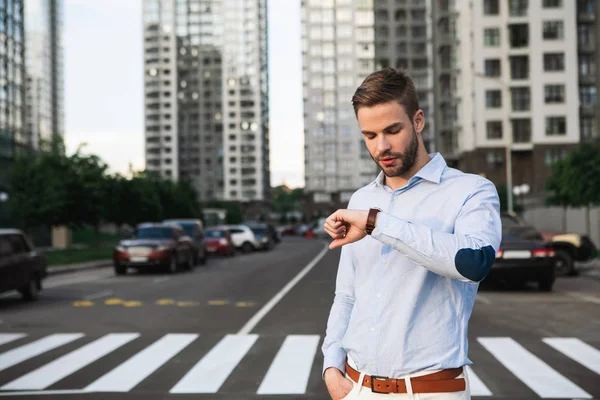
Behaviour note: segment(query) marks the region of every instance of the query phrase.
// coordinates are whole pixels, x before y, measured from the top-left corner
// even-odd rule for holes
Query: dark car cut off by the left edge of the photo
[[[47,271],[45,257],[26,234],[0,229],[0,293],[17,290],[25,300],[37,300]]]

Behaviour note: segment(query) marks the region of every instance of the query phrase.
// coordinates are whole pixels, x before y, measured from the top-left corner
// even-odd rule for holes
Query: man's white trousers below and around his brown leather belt
[[[354,365],[352,365],[352,361],[348,360],[348,364],[350,364],[351,367],[355,368]],[[429,371],[429,372],[435,372],[435,371]],[[469,377],[467,376],[467,369],[463,368],[463,372],[457,376],[456,378],[464,378],[465,379],[465,384],[466,384],[466,388],[464,391],[462,392],[452,392],[452,393],[412,393],[412,388],[410,386],[410,378],[412,377],[416,377],[416,376],[420,376],[420,375],[425,375],[424,373],[415,373],[415,374],[410,374],[410,375],[406,375],[403,376],[402,378],[405,379],[406,382],[406,388],[408,389],[408,393],[373,393],[371,391],[370,388],[359,385],[358,383],[352,381],[352,379],[350,379],[348,377],[348,375],[346,375],[346,377],[348,379],[350,379],[353,383],[353,388],[352,391],[350,393],[348,393],[348,395],[346,397],[344,397],[342,400],[355,400],[355,399],[360,399],[360,400],[390,400],[390,399],[394,399],[394,400],[470,400],[471,399],[471,388],[469,386]],[[364,378],[364,373],[360,374],[360,379],[359,381],[362,382],[363,378]]]

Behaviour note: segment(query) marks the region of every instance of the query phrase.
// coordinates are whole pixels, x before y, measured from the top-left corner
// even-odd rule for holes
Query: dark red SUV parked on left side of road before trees
[[[173,224],[145,224],[131,239],[122,240],[113,253],[115,273],[128,268],[162,267],[175,273],[180,267],[194,266],[194,246],[182,227]]]

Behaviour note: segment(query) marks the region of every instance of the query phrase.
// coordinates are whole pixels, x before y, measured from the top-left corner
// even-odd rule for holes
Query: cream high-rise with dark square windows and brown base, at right
[[[434,33],[439,151],[542,194],[550,165],[580,141],[575,2],[438,0],[434,10],[433,25],[451,27]]]

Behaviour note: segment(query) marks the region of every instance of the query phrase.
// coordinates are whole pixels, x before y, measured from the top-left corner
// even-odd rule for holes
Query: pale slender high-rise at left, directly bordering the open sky
[[[25,132],[33,149],[64,135],[62,9],[62,0],[25,2]]]

